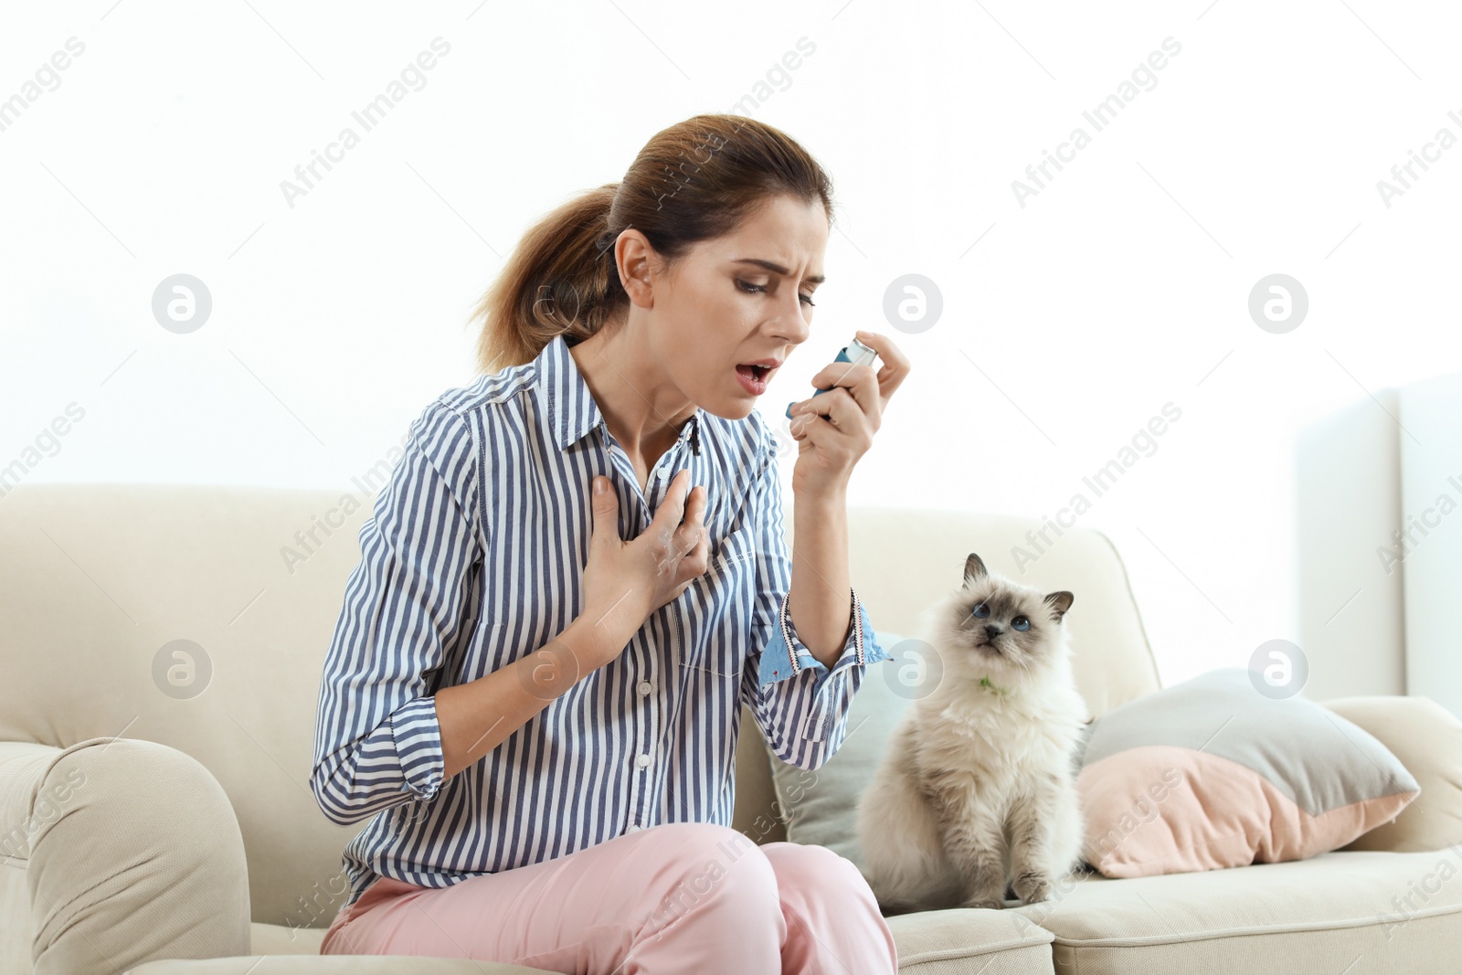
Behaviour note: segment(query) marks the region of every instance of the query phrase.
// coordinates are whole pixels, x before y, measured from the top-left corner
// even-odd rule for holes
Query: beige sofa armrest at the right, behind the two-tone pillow
[[[1421,852],[1462,842],[1462,721],[1423,696],[1376,694],[1319,703],[1374,735],[1421,786],[1396,819],[1341,849]]]

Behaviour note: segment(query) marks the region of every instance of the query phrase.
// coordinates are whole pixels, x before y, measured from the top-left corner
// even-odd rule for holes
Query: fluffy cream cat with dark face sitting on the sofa
[[[1023,903],[1083,867],[1076,763],[1091,718],[1061,620],[1070,592],[991,574],[925,610],[940,665],[858,798],[864,874],[885,914]],[[934,683],[934,681],[930,681]]]

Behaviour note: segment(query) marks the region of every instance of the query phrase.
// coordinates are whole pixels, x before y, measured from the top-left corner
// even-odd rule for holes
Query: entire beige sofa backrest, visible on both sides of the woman
[[[373,503],[364,490],[13,488],[0,497],[0,740],[69,747],[120,735],[186,751],[238,816],[254,921],[327,925],[344,900],[341,851],[363,824],[335,826],[314,803],[314,712]],[[969,512],[852,509],[854,586],[879,630],[912,636],[923,607],[956,586],[978,551],[994,572],[1076,593],[1066,618],[1092,713],[1156,690],[1105,536],[1069,529],[1020,576],[1009,553],[1031,528]],[[765,746],[743,716],[738,827],[772,810]]]

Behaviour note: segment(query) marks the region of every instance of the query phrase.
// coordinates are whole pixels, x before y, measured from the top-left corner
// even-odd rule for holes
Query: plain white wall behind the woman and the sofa
[[[472,379],[463,320],[531,221],[807,38],[753,114],[825,162],[842,209],[816,335],[766,412],[880,330],[915,373],[854,503],[1054,517],[1171,402],[1079,522],[1121,548],[1167,683],[1244,664],[1306,639],[1297,434],[1462,368],[1462,148],[1390,206],[1377,191],[1462,134],[1459,26],[1444,3],[7,6],[0,98],[69,38],[85,51],[0,132],[0,465],[348,484]],[[425,86],[288,206],[281,181],[437,37]],[[1083,111],[1165,38],[1181,51],[1095,132]],[[1077,126],[1091,143],[1018,203]],[[180,272],[213,300],[190,335],[151,311]],[[1310,301],[1282,335],[1247,310],[1276,272]],[[943,297],[920,333],[882,317],[906,273]],[[70,403],[85,417],[26,455]],[[1344,507],[1347,484],[1304,484]]]

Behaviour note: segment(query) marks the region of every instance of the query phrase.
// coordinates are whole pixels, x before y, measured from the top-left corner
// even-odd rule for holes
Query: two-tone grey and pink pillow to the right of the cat
[[[1390,820],[1420,789],[1386,746],[1224,668],[1095,721],[1077,792],[1085,860],[1143,877],[1301,860]]]

